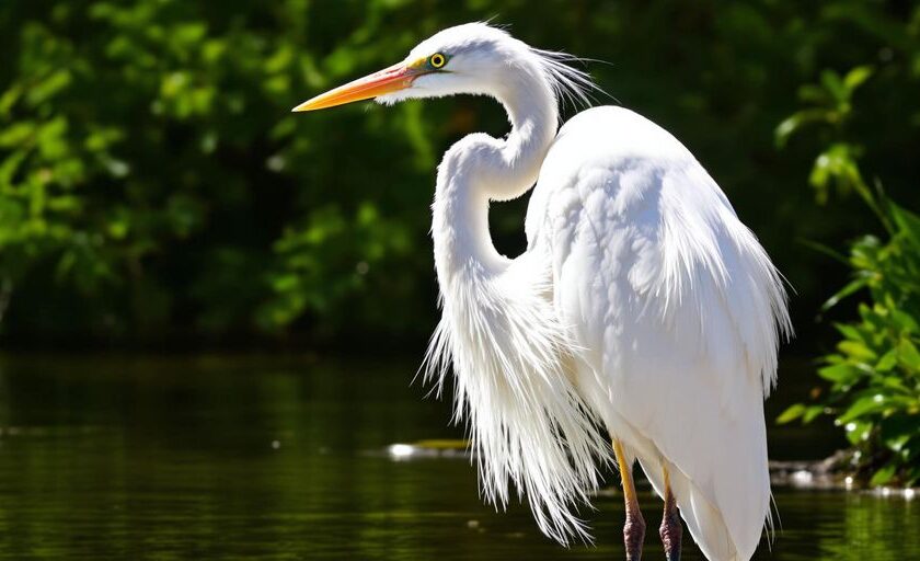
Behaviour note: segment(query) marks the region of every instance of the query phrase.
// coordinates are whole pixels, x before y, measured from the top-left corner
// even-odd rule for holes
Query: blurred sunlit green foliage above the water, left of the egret
[[[323,144],[343,136],[332,117],[289,113],[307,92],[407,46],[371,56],[383,2],[324,59],[304,38],[301,1],[53,4],[4,7],[19,33],[0,96],[0,289],[13,312],[21,302],[15,328],[145,336],[191,319],[185,330],[207,334],[312,314],[335,329],[333,318],[348,321],[345,302],[366,323],[363,307],[398,309],[371,301],[360,271],[417,249],[414,222],[390,213],[426,197],[382,203],[388,190],[368,176],[409,151],[400,125],[377,119],[352,135],[365,139],[355,153],[377,147],[363,172]],[[412,117],[393,121],[407,128]],[[417,286],[415,273],[404,266],[395,280]],[[43,302],[48,291],[65,301]]]

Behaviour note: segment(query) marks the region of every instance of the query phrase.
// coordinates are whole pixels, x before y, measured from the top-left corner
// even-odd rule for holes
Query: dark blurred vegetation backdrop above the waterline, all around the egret
[[[697,154],[789,278],[793,350],[829,345],[815,320],[849,273],[802,241],[840,249],[882,228],[846,188],[809,186],[824,128],[784,147],[774,131],[809,101],[803,84],[869,66],[840,126],[867,182],[916,209],[915,2],[4,0],[0,342],[422,341],[435,167],[467,133],[504,134],[499,107],[289,110],[486,19],[606,61],[588,64],[597,82]],[[525,207],[493,215],[508,254]]]

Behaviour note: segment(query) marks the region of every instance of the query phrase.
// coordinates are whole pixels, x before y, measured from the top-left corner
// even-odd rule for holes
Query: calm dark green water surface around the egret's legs
[[[409,386],[414,368],[0,358],[0,558],[623,558],[613,488],[589,513],[597,546],[566,550],[538,534],[525,507],[483,506],[465,459],[391,459],[392,443],[459,436],[446,405]],[[801,394],[804,378],[786,378]],[[826,428],[815,431],[772,431],[773,456],[832,449]],[[757,559],[920,559],[920,501],[775,495],[783,529]],[[659,503],[647,490],[643,499],[656,528]],[[649,531],[645,559],[664,559],[656,538]],[[685,559],[701,559],[688,541]]]

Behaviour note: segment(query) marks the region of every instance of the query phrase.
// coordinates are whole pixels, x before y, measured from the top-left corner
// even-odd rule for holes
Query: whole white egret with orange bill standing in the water
[[[584,538],[573,511],[598,485],[609,437],[628,559],[640,559],[645,529],[637,459],[665,501],[668,560],[680,557],[678,512],[709,559],[747,560],[770,520],[763,399],[791,330],[780,275],[663,128],[606,106],[556,133],[561,99],[593,87],[571,59],[459,25],[294,111],[371,98],[501,102],[510,133],[455,144],[432,207],[442,318],[427,374],[456,376],[456,416],[486,497],[504,505],[510,482],[547,535]],[[534,183],[527,251],[505,257],[490,237],[490,202]]]

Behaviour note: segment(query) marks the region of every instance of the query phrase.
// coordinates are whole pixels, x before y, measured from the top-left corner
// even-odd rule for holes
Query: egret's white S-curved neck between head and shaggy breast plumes
[[[488,233],[488,203],[527,193],[555,138],[559,113],[542,72],[519,71],[488,94],[508,113],[508,136],[469,135],[438,167],[432,237],[441,291],[460,272],[488,274],[507,266]]]

